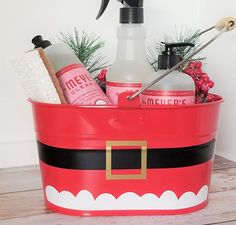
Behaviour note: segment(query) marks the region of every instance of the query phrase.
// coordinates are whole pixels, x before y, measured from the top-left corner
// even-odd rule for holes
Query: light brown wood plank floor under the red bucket
[[[210,204],[181,216],[72,217],[44,207],[38,167],[0,170],[0,225],[236,225],[236,163],[216,156]]]

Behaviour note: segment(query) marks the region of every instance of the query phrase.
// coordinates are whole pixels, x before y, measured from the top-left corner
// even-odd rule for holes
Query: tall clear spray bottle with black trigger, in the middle
[[[118,96],[125,91],[138,91],[142,80],[154,70],[146,59],[143,27],[143,0],[120,1],[120,23],[118,27],[117,57],[106,76],[106,94],[113,104],[118,103]],[[106,10],[109,0],[103,0],[97,19]]]

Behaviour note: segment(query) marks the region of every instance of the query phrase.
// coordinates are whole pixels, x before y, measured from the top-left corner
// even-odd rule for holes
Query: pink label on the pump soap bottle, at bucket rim
[[[189,105],[195,103],[194,91],[146,90],[141,95],[143,105]]]

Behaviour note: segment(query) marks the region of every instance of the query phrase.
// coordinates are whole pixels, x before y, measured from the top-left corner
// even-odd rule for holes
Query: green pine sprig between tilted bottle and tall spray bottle
[[[60,35],[60,40],[73,49],[90,74],[96,75],[108,67],[106,58],[98,54],[98,50],[104,46],[100,37],[88,35],[84,31],[80,34],[76,28],[73,34],[61,32]]]

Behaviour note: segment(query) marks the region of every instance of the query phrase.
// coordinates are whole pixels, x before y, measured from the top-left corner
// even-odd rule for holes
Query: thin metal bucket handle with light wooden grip
[[[188,57],[186,57],[184,60],[182,60],[181,62],[179,62],[178,64],[176,64],[174,67],[172,67],[171,69],[167,70],[163,75],[161,75],[160,77],[156,78],[154,81],[152,81],[150,84],[146,85],[145,87],[143,87],[141,90],[135,92],[133,95],[129,95],[127,96],[128,100],[133,100],[135,99],[138,95],[140,95],[143,91],[145,91],[146,89],[150,88],[152,85],[154,85],[155,83],[159,82],[160,80],[162,80],[164,77],[166,77],[167,75],[169,75],[170,73],[172,73],[174,70],[178,69],[181,65],[183,65],[184,63],[186,63],[188,60],[190,60],[193,56],[195,56],[196,54],[198,54],[199,52],[201,52],[203,49],[205,49],[206,47],[208,47],[212,42],[214,42],[216,39],[218,39],[223,33],[225,33],[226,31],[232,31],[236,28],[236,18],[233,17],[227,17],[227,18],[223,18],[222,20],[220,20],[215,26],[212,26],[204,31],[202,31],[200,34],[198,34],[198,36],[201,36],[204,33],[207,33],[213,29],[217,29],[219,30],[219,33],[213,37],[210,41],[208,41],[206,44],[204,44],[202,47],[200,47],[199,49],[197,49],[196,51],[194,51],[192,54],[190,54]]]

